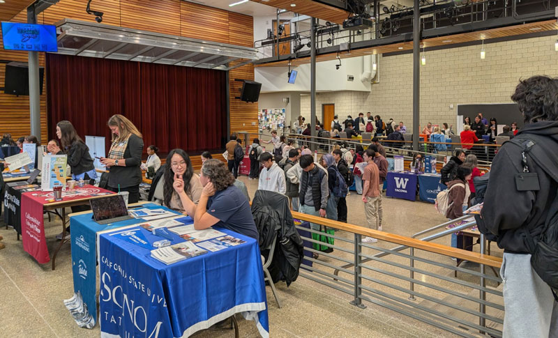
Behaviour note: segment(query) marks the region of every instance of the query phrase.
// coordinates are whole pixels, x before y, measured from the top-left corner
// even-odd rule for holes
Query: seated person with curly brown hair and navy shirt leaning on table
[[[194,219],[194,228],[202,230],[215,225],[257,240],[259,234],[250,203],[239,188],[234,186],[234,176],[225,163],[215,159],[206,160],[199,180],[204,188],[197,206],[186,194],[181,194],[186,212]],[[174,180],[175,190],[182,191],[183,185],[183,180]]]

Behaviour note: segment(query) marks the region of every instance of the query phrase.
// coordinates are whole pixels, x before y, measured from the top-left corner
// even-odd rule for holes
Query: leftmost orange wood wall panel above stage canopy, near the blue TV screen
[[[95,16],[86,13],[86,6],[87,0],[60,0],[43,12],[43,22],[55,24],[65,18],[95,22]],[[91,7],[104,13],[103,24],[120,26],[120,0],[95,0]]]

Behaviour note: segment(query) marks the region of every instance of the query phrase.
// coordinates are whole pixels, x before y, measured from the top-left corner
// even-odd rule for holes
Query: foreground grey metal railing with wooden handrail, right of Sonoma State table
[[[305,241],[304,250],[319,254],[317,258],[304,257],[301,277],[349,295],[351,304],[357,307],[370,302],[462,337],[476,337],[477,332],[502,337],[504,305],[502,291],[497,289],[502,279],[484,272],[485,265],[499,268],[502,261],[484,254],[483,245],[481,253],[469,252],[428,243],[427,238],[417,240],[296,212],[293,216],[349,231],[326,235],[312,226],[296,225]],[[429,238],[473,224],[462,224]],[[377,238],[378,243],[363,243],[363,236]],[[333,238],[334,244],[325,244],[324,237]],[[390,243],[399,246],[384,247]],[[333,252],[320,251],[315,245],[325,245]],[[478,263],[480,271],[476,265],[460,267],[444,262],[448,257]],[[459,278],[453,275],[455,271],[462,272]],[[487,281],[495,285],[487,286]]]

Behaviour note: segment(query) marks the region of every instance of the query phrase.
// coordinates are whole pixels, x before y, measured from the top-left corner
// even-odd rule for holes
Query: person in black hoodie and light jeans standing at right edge
[[[558,79],[520,81],[525,126],[492,162],[478,229],[504,249],[504,337],[558,335]]]

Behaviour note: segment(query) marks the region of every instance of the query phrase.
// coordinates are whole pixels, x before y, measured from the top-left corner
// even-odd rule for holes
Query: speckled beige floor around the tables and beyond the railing
[[[257,180],[248,180],[246,176],[241,176],[241,180],[253,196]],[[347,206],[349,223],[366,224],[359,195],[352,192],[347,197]],[[384,231],[410,236],[442,222],[444,217],[435,212],[432,204],[384,197]],[[54,236],[59,228],[54,222],[47,223],[45,233],[50,248],[57,244]],[[336,234],[345,238],[352,236],[344,231]],[[50,264],[40,266],[24,252],[13,229],[6,229],[3,221],[0,221],[0,236],[6,244],[6,249],[0,250],[0,337],[98,337],[98,325],[93,330],[78,328],[62,303],[73,295],[70,246],[61,249],[56,270],[52,271]],[[448,244],[449,238],[435,242]],[[478,245],[476,247],[478,249]],[[492,245],[492,252],[501,254],[495,245]],[[438,258],[451,264],[448,257]],[[320,259],[335,261],[327,257]],[[391,282],[397,284],[393,279]],[[281,309],[271,289],[266,288],[271,337],[453,337],[449,332],[370,302],[365,309],[354,307],[349,304],[352,300],[349,295],[304,277],[299,277],[288,288],[283,282],[276,286]],[[240,337],[258,337],[255,325],[240,317],[239,330]],[[195,337],[234,337],[234,332],[211,328],[197,332]]]

